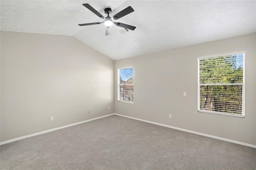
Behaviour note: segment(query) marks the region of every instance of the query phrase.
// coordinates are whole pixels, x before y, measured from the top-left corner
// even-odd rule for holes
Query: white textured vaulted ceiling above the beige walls
[[[80,27],[103,21],[84,3],[101,14],[111,7],[113,15],[132,6],[134,12],[117,22],[137,28],[121,34],[114,25],[105,36],[104,24]],[[256,0],[1,0],[0,5],[2,31],[74,36],[113,60],[256,32]]]

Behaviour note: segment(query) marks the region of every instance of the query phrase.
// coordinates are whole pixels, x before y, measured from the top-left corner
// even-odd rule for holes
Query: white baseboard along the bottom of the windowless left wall
[[[61,128],[71,127],[71,126],[78,125],[78,124],[81,124],[81,123],[86,123],[86,122],[89,122],[89,121],[94,121],[96,119],[101,119],[101,118],[112,116],[112,115],[114,115],[114,113],[109,114],[109,115],[104,115],[104,116],[101,116],[101,117],[96,117],[96,118],[89,119],[89,120],[82,121],[82,122],[78,122],[78,123],[73,123],[73,124],[70,124],[70,125],[63,126],[63,127],[52,128],[52,129],[49,129],[49,130],[44,130],[42,132],[37,132],[37,133],[29,134],[29,135],[26,135],[26,136],[21,136],[21,137],[18,137],[18,138],[6,140],[6,141],[3,141],[3,142],[0,142],[0,145],[6,144],[6,143],[10,143],[10,142],[14,142],[16,140],[21,140],[21,139],[24,139],[24,138],[29,138],[29,137],[36,136],[36,135],[39,135],[39,134],[43,134],[43,133],[47,133],[47,132],[52,132],[54,130],[58,130],[58,129],[61,129]]]

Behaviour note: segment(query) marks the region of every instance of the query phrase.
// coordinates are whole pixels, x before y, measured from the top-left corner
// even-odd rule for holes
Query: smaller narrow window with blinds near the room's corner
[[[133,67],[117,69],[118,101],[133,103]]]

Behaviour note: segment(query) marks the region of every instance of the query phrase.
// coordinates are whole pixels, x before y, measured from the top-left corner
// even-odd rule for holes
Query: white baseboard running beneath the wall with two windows
[[[184,129],[184,128],[172,127],[172,126],[169,126],[169,125],[164,125],[164,124],[161,124],[161,123],[146,121],[146,120],[143,120],[143,119],[138,119],[138,118],[134,118],[134,117],[126,116],[126,115],[120,115],[120,114],[117,114],[117,113],[114,113],[114,115],[118,115],[118,116],[122,116],[122,117],[127,117],[127,118],[135,119],[135,120],[138,120],[138,121],[143,121],[143,122],[147,122],[147,123],[152,123],[152,124],[155,124],[155,125],[160,125],[160,126],[168,127],[168,128],[174,128],[174,129],[182,130],[182,131],[185,131],[185,132],[190,132],[190,133],[194,133],[194,134],[199,134],[199,135],[207,136],[207,137],[210,137],[210,138],[215,138],[215,139],[224,140],[224,141],[227,141],[227,142],[232,142],[232,143],[241,144],[241,145],[244,145],[244,146],[249,146],[249,147],[252,147],[252,148],[256,148],[256,145],[254,145],[254,144],[248,144],[248,143],[239,142],[239,141],[236,141],[236,140],[231,140],[231,139],[227,139],[227,138],[222,138],[222,137],[218,137],[218,136],[213,136],[213,135],[210,135],[210,134],[195,132],[195,131],[192,131],[192,130],[186,130],[186,129]]]

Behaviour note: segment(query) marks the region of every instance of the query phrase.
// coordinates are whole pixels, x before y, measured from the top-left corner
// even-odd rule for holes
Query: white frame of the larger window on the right
[[[234,114],[234,113],[223,113],[223,112],[216,112],[216,111],[204,111],[200,110],[200,85],[208,85],[207,83],[200,84],[200,59],[208,59],[208,58],[214,58],[214,57],[222,57],[222,56],[228,56],[228,55],[236,55],[236,54],[243,54],[243,83],[236,83],[236,85],[242,85],[242,115]],[[210,113],[210,114],[216,114],[216,115],[226,115],[226,116],[232,116],[232,117],[245,117],[245,51],[238,51],[238,52],[232,52],[232,53],[222,53],[217,55],[208,55],[203,57],[198,57],[198,112],[202,113]],[[210,83],[210,85],[234,85],[234,83]]]

